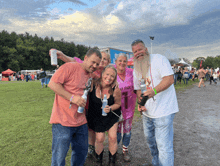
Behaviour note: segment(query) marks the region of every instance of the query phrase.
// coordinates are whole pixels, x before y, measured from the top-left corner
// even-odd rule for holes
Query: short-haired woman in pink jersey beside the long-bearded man
[[[128,146],[131,139],[132,120],[136,105],[136,94],[133,84],[133,69],[127,68],[127,56],[120,53],[115,61],[117,69],[117,82],[121,90],[121,111],[124,118],[123,122],[119,122],[117,130],[118,144],[122,140],[122,151],[124,161],[130,161],[128,155]]]

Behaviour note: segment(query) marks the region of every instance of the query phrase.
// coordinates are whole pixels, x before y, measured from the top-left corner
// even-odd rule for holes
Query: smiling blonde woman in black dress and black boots
[[[109,163],[115,165],[117,152],[117,128],[121,115],[121,91],[115,87],[117,71],[113,66],[106,66],[101,78],[94,83],[89,95],[89,109],[87,112],[88,127],[95,131],[96,135],[96,158],[97,164],[102,165],[103,142],[105,131],[108,131]],[[112,88],[114,87],[114,88]],[[102,116],[102,100],[107,95],[108,105],[104,108],[107,116]],[[112,113],[116,113],[118,116]]]

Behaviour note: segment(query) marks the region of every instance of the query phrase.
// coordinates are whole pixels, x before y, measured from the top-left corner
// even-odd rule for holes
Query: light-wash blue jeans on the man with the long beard
[[[153,157],[153,166],[173,166],[173,119],[175,114],[161,118],[143,116],[144,135]]]

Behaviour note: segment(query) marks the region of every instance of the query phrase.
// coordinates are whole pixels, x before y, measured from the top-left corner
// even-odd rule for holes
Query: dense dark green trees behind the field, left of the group
[[[20,70],[54,70],[51,66],[49,50],[56,48],[71,57],[83,59],[90,47],[66,42],[64,39],[55,41],[52,37],[41,38],[37,34],[16,34],[3,30],[0,32],[0,73],[8,68]],[[58,60],[59,65],[64,62]]]

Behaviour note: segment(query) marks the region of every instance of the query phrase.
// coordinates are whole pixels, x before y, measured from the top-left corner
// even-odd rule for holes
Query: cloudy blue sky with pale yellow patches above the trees
[[[141,39],[150,53],[192,62],[220,55],[220,1],[0,0],[2,30],[126,51]]]

